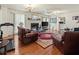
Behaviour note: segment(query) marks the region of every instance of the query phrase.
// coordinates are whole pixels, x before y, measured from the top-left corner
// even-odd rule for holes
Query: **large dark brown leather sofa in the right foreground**
[[[79,55],[79,32],[65,32],[60,42],[53,41],[64,55]]]

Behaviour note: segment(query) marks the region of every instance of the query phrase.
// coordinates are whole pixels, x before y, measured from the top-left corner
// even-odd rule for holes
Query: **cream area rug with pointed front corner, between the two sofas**
[[[37,43],[38,45],[40,45],[41,47],[43,47],[43,48],[47,48],[47,47],[49,47],[50,45],[53,44],[53,40],[52,40],[52,39],[49,39],[49,40],[38,39],[38,40],[36,41],[36,43]]]

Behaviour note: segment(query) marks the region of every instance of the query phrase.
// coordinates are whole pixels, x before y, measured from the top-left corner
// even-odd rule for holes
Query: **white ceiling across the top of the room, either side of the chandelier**
[[[28,11],[27,4],[4,4],[2,6],[21,11]],[[31,4],[31,7],[33,8],[32,12],[38,12],[47,15],[79,10],[79,4]]]

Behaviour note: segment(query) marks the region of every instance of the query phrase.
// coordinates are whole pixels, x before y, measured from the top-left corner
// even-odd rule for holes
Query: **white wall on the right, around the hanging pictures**
[[[72,20],[72,16],[79,16],[79,11],[77,12],[69,12],[69,13],[64,13],[64,14],[60,14],[58,15],[58,17],[65,17],[65,24],[61,24],[60,27],[63,28],[75,28],[75,27],[79,27],[79,23],[77,23],[77,20]]]

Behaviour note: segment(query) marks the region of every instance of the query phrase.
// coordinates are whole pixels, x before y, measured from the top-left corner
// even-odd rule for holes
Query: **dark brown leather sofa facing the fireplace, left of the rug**
[[[29,44],[38,39],[38,33],[18,27],[18,38],[22,44]]]

